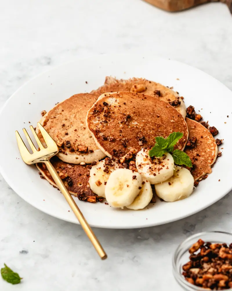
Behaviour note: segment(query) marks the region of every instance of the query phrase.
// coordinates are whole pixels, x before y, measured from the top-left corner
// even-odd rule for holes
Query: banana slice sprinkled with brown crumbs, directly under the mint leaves
[[[173,157],[166,153],[160,158],[149,157],[149,150],[142,149],[135,159],[138,172],[151,184],[157,184],[171,178],[173,175]]]

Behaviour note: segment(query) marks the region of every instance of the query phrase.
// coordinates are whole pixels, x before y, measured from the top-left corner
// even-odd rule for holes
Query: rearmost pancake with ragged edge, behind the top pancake
[[[129,80],[117,80],[113,77],[106,77],[105,84],[91,93],[101,95],[106,92],[129,91],[133,93],[144,93],[155,96],[165,102],[172,102],[177,100],[177,107],[175,109],[180,112],[184,118],[186,116],[186,106],[179,94],[172,89],[165,87],[159,83],[149,81],[142,78],[132,78]]]

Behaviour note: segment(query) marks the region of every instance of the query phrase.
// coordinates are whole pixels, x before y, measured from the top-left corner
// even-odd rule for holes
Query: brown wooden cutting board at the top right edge
[[[207,2],[226,3],[232,13],[232,0],[144,0],[166,11],[180,11]]]

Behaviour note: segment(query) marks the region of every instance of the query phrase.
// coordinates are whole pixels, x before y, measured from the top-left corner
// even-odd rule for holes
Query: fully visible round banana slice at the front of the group
[[[142,176],[129,169],[117,169],[106,184],[106,200],[112,207],[130,205],[142,189]]]

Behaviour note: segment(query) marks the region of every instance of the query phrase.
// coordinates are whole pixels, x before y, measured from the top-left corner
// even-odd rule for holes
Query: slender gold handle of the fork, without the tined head
[[[71,209],[73,210],[74,214],[76,215],[80,225],[82,226],[82,228],[84,229],[86,235],[88,236],[88,238],[90,239],[90,241],[92,242],[93,246],[95,247],[97,253],[99,254],[100,258],[102,260],[107,258],[107,255],[104,251],[104,249],[102,248],[100,242],[98,241],[97,237],[95,236],[95,234],[93,233],[93,230],[91,229],[91,227],[88,225],[88,222],[86,221],[86,219],[84,218],[83,214],[81,213],[81,211],[79,210],[79,207],[77,206],[77,204],[75,203],[75,201],[73,200],[73,197],[71,196],[71,194],[68,192],[67,188],[65,187],[63,181],[61,180],[61,178],[59,177],[59,175],[57,174],[57,171],[55,170],[55,168],[52,166],[51,162],[49,160],[44,161],[44,163],[46,164],[48,171],[50,172],[50,174],[52,175],[53,180],[55,181],[55,183],[57,184],[57,187],[60,189],[61,193],[64,195],[65,199],[67,200],[69,206],[71,207]]]

